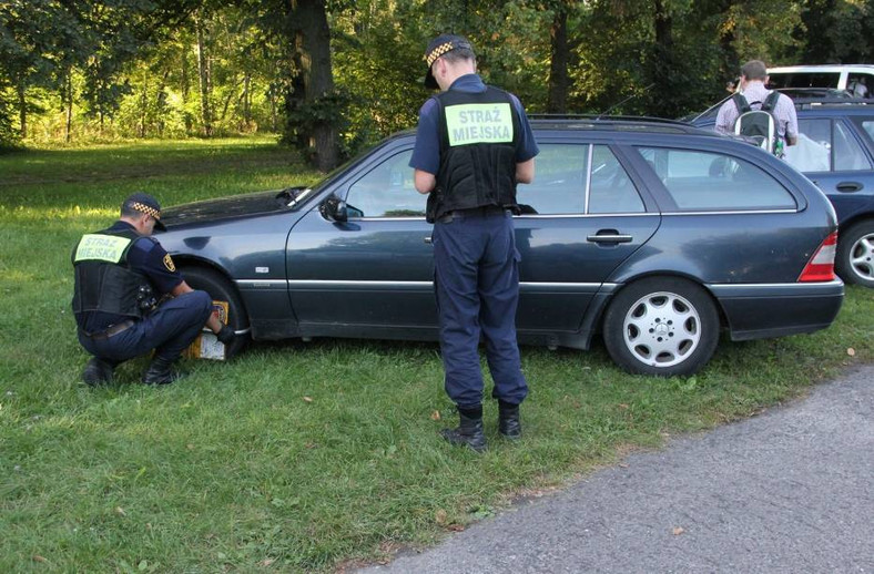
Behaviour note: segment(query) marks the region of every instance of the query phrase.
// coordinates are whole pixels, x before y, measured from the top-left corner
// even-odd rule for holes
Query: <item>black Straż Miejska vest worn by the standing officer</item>
[[[516,147],[521,121],[510,95],[497,88],[450,90],[440,104],[440,168],[429,197],[435,217],[453,209],[516,205]]]

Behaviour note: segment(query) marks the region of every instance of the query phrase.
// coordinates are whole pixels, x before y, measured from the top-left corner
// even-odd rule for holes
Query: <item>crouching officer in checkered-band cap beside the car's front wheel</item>
[[[165,228],[161,205],[135,193],[122,204],[118,222],[82,236],[73,249],[73,314],[79,342],[93,356],[82,373],[88,385],[111,381],[120,362],[152,349],[142,380],[166,385],[180,378],[173,362],[204,324],[225,345],[235,337],[213,315],[210,295],[192,289],[151,237],[155,227]]]

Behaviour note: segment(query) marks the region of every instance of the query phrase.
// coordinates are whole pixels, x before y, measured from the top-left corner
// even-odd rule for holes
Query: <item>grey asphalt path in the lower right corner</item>
[[[363,573],[874,573],[874,365]]]

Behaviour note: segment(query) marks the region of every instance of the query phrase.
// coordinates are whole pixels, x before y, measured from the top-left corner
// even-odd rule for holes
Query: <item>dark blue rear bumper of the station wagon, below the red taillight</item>
[[[837,317],[844,300],[841,279],[707,287],[722,307],[735,341],[825,329]]]

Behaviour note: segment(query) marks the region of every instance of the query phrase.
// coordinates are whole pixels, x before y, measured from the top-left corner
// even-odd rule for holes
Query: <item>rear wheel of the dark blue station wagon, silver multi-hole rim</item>
[[[698,285],[649,277],[610,303],[603,339],[610,357],[631,373],[670,377],[698,372],[717,349],[717,307]]]

